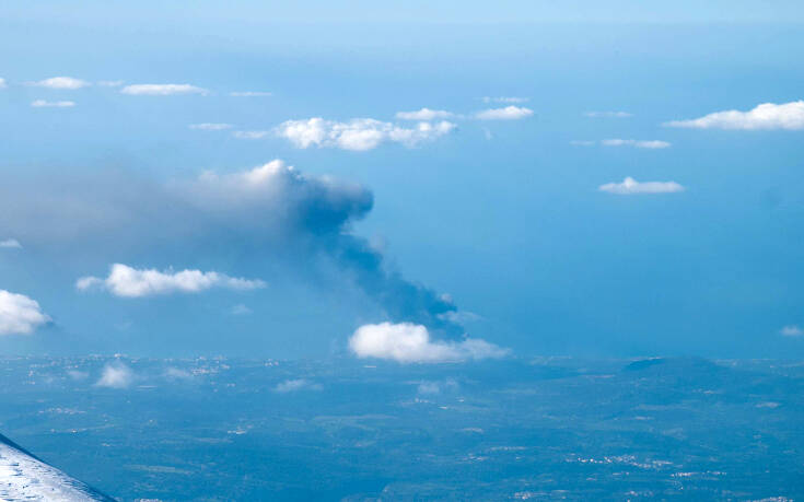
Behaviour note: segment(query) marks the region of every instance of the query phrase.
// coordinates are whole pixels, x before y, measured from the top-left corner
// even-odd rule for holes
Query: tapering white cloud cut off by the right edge
[[[730,109],[691,120],[673,120],[664,125],[691,129],[800,130],[804,129],[804,101],[781,105],[762,103],[748,112]]]

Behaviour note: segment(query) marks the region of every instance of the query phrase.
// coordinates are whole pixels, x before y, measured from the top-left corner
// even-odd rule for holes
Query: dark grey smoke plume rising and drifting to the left
[[[66,258],[114,255],[121,262],[141,259],[145,252],[175,262],[187,246],[210,258],[231,257],[245,245],[249,252],[243,259],[254,269],[281,264],[312,287],[331,281],[327,290],[361,291],[388,319],[462,336],[463,327],[444,315],[456,311],[451,299],[405,278],[381,249],[353,233],[373,202],[362,185],[305,174],[279,160],[167,183],[125,171],[92,178],[74,173],[44,180],[9,177],[0,184],[0,235],[59,249]],[[82,285],[109,290],[106,280],[88,279]]]

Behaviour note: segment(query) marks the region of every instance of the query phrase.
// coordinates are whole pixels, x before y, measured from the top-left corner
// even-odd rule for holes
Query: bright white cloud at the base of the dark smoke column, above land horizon
[[[501,358],[508,353],[480,339],[433,341],[427,327],[412,324],[366,324],[354,331],[349,348],[358,358],[389,359],[401,363],[455,362]]]

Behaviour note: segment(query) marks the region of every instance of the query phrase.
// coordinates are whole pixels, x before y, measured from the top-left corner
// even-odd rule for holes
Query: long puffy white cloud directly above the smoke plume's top
[[[348,122],[325,120],[321,117],[307,120],[288,120],[277,129],[277,135],[298,148],[330,147],[342,150],[365,151],[391,141],[416,147],[447,135],[455,125],[445,120],[436,124],[419,122],[405,128],[373,118],[356,118]]]

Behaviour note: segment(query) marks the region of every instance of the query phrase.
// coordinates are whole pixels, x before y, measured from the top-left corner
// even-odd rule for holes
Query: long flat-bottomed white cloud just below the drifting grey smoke
[[[254,290],[265,288],[265,282],[258,279],[241,279],[218,272],[202,272],[200,270],[182,270],[178,272],[167,270],[160,272],[155,269],[138,270],[123,264],[114,264],[106,279],[82,277],[75,282],[75,288],[80,291],[102,288],[116,296],[125,297],[199,293],[211,288]]]

